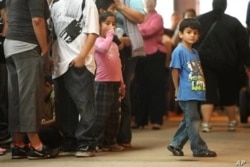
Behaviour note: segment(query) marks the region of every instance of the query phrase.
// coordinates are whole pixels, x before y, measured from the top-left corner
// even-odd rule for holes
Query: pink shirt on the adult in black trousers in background
[[[156,11],[150,13],[145,21],[138,25],[144,40],[146,54],[156,53],[158,50],[166,52],[165,46],[162,44],[162,36],[164,33],[163,19]]]

